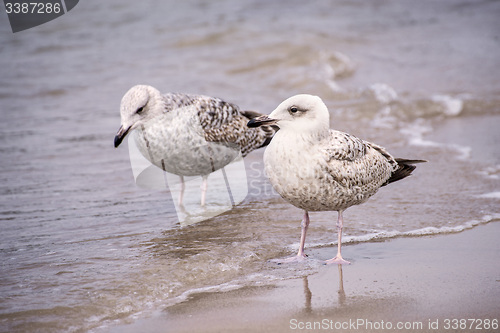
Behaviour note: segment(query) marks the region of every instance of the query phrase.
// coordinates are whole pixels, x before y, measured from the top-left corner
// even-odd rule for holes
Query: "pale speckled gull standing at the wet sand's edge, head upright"
[[[423,160],[397,159],[384,148],[329,128],[330,114],[321,98],[296,95],[249,127],[277,125],[264,153],[269,180],[285,200],[304,210],[299,252],[278,262],[306,258],[309,211],[337,211],[337,255],[327,264],[349,264],[341,255],[342,213],[374,195],[384,185],[405,178]]]

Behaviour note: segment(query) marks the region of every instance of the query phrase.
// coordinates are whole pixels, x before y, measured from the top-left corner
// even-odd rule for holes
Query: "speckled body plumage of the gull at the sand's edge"
[[[265,152],[266,173],[275,190],[307,211],[339,211],[359,205],[398,170],[398,163],[384,148],[347,133],[327,133],[309,145],[300,135],[290,133],[295,137],[291,138],[280,131]]]

